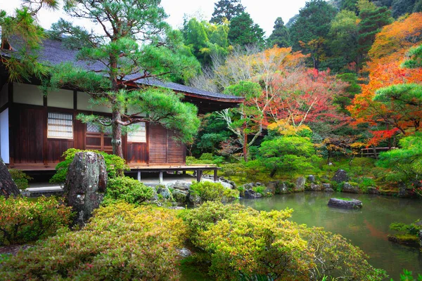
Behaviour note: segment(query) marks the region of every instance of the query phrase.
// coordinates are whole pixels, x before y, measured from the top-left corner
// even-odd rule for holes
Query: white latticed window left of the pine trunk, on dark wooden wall
[[[47,131],[48,138],[73,138],[73,115],[49,112]]]

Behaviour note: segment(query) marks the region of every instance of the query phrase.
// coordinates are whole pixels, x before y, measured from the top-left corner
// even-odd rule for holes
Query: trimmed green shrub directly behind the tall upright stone
[[[64,183],[66,175],[68,174],[69,166],[72,163],[73,158],[75,158],[75,153],[89,151],[103,155],[104,161],[106,162],[108,178],[123,176],[123,172],[129,170],[129,166],[127,166],[126,161],[117,155],[110,155],[98,150],[78,150],[76,148],[70,148],[63,152],[62,157],[64,157],[65,160],[56,165],[56,174],[51,177],[50,183]]]

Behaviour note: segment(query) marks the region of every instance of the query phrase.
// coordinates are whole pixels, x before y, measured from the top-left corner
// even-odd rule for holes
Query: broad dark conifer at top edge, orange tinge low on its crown
[[[336,9],[324,0],[311,0],[300,9],[299,17],[290,28],[293,50],[310,53],[313,67],[318,69],[324,56],[324,40]]]

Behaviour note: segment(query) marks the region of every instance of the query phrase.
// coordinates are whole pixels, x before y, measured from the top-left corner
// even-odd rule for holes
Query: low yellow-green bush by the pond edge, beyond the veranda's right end
[[[200,202],[219,201],[230,202],[239,197],[238,190],[225,188],[221,183],[212,183],[210,181],[201,181],[199,183],[192,183],[191,195],[200,197]]]

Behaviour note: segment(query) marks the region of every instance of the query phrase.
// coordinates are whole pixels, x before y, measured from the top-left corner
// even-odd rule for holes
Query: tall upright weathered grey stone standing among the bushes
[[[107,186],[106,162],[103,155],[77,152],[69,166],[63,189],[65,200],[75,215],[74,223],[84,226],[103,201]]]

